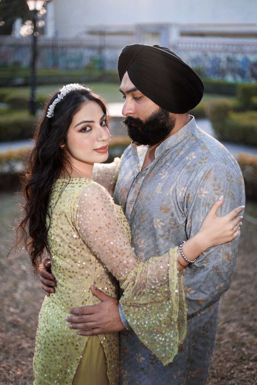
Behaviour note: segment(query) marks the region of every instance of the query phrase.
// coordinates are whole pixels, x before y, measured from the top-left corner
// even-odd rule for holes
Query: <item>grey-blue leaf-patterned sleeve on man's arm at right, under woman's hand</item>
[[[186,236],[190,238],[200,229],[212,204],[224,196],[217,215],[245,204],[244,181],[239,166],[221,163],[199,170],[185,194]],[[242,213],[240,214],[242,215]],[[186,240],[186,239],[185,239]],[[215,246],[201,254],[196,263],[184,273],[188,315],[201,310],[228,290],[235,268],[239,237],[230,243]]]

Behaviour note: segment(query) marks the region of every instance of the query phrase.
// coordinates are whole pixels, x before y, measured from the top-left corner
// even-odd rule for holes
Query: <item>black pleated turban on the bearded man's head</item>
[[[118,60],[120,82],[125,72],[134,86],[173,114],[190,111],[203,97],[203,82],[175,52],[159,45],[126,45]]]

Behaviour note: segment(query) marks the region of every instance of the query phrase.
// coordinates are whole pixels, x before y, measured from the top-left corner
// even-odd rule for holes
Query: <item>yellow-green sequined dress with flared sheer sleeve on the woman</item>
[[[131,248],[131,233],[121,207],[104,187],[88,179],[57,179],[50,211],[48,243],[57,287],[45,297],[39,314],[34,385],[72,384],[90,337],[69,328],[68,310],[100,302],[91,293],[92,284],[117,298],[114,277],[124,290],[120,303],[136,334],[164,365],[171,362],[186,333],[176,248],[145,263],[139,261]],[[110,385],[117,384],[118,333],[98,338],[106,355]]]

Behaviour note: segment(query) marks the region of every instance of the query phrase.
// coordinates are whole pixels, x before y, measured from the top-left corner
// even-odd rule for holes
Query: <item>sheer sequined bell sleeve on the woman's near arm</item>
[[[126,218],[97,184],[84,189],[78,206],[79,233],[124,290],[120,300],[124,316],[140,340],[168,364],[186,334],[185,296],[177,273],[176,248],[161,257],[139,261],[130,244]]]

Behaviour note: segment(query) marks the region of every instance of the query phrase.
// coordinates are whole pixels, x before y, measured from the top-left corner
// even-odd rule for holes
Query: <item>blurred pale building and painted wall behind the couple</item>
[[[207,77],[257,81],[257,0],[54,0],[46,9],[39,67],[112,70],[124,45],[143,43],[171,48]],[[0,64],[29,65],[29,41],[0,37]]]

